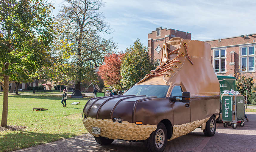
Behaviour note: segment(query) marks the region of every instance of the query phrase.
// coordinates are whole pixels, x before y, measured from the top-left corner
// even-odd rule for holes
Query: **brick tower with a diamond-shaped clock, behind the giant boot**
[[[175,29],[162,29],[162,27],[157,28],[148,34],[148,48],[149,54],[152,58],[156,59],[158,62],[161,60],[162,47],[164,41],[168,41],[173,37],[181,37],[182,39],[191,39],[191,33],[178,31]]]

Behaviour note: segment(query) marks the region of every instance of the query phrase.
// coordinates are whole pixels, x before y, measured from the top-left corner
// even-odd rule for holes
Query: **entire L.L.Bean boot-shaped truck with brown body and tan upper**
[[[172,38],[163,44],[161,64],[123,95],[90,99],[83,124],[97,143],[143,141],[162,152],[166,142],[201,127],[213,136],[220,88],[210,44]]]

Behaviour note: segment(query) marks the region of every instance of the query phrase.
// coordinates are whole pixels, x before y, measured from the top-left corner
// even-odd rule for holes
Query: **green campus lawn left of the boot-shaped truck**
[[[90,98],[68,98],[62,107],[60,95],[9,95],[7,125],[27,126],[22,131],[1,131],[0,152],[15,151],[88,133],[82,123],[82,110]],[[0,118],[3,94],[0,94]],[[80,105],[70,105],[80,102]],[[33,111],[33,107],[46,111]]]

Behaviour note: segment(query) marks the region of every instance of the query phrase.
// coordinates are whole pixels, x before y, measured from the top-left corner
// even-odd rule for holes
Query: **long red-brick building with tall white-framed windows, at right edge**
[[[255,75],[256,33],[205,41],[211,45],[212,65],[217,75]]]

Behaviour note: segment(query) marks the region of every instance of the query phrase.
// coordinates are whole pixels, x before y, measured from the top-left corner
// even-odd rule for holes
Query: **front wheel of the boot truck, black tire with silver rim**
[[[163,123],[157,125],[157,129],[152,132],[144,145],[148,152],[163,152],[167,142],[167,130]]]

